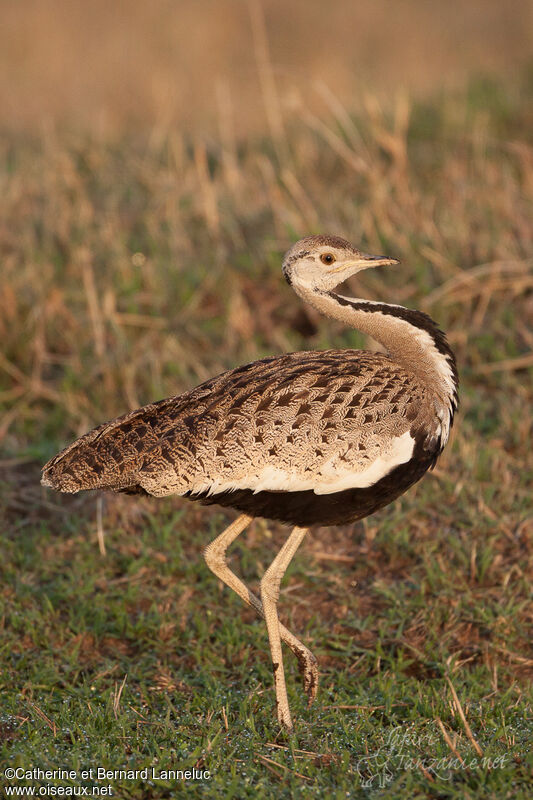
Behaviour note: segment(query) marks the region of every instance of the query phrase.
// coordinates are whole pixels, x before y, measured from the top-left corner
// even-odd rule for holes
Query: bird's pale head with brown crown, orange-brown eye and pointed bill
[[[399,263],[362,253],[340,236],[307,236],[285,253],[283,274],[294,289],[329,292],[363,269]]]

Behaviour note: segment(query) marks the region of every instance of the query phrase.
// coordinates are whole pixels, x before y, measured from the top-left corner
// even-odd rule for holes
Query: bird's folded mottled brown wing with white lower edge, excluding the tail
[[[194,392],[148,447],[150,494],[237,489],[327,494],[370,486],[412,456],[427,392],[387,356],[361,351],[265,359]]]

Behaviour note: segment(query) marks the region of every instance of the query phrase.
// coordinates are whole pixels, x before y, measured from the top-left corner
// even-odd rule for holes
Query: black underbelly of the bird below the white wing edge
[[[266,517],[290,525],[344,525],[373,514],[388,505],[416,483],[436,461],[435,454],[416,453],[406,464],[364,489],[344,489],[332,494],[301,492],[257,492],[237,489],[213,495],[192,495],[205,505],[229,506],[253,517]]]

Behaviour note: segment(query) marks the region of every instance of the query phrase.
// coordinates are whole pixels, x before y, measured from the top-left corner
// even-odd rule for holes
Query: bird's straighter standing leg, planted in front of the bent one
[[[277,605],[281,579],[285,575],[285,571],[306,533],[307,528],[293,528],[291,535],[261,578],[261,600],[263,601],[263,611],[267,624],[270,653],[272,655],[272,666],[274,668],[278,720],[280,725],[284,725],[289,732],[292,731],[292,720],[289,710],[289,700],[287,698],[287,687],[285,685],[285,673],[283,671],[280,638],[281,626],[278,620]]]

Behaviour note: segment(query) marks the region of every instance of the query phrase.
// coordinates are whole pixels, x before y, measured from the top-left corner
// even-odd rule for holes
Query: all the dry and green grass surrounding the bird
[[[239,147],[170,127],[4,139],[3,762],[210,773],[102,781],[124,798],[529,796],[532,99],[527,81],[477,81],[327,123],[302,108],[283,142]],[[312,532],[291,565],[281,616],[321,686],[306,708],[287,656],[287,737],[264,626],[202,559],[231,515],[56,496],[38,465],[239,362],[366,345],[281,280],[281,252],[313,231],[402,259],[352,291],[439,320],[462,406],[434,473]],[[258,520],[232,548],[250,585],[285,535]]]

